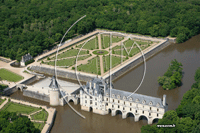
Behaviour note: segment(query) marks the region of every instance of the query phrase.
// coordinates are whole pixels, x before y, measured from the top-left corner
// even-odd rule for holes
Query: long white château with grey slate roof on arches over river
[[[123,119],[132,114],[135,121],[145,116],[148,124],[152,124],[154,119],[161,119],[167,111],[166,95],[161,99],[112,88],[100,78],[87,82],[83,90],[80,90],[81,109],[101,115],[111,113],[112,116],[121,112]]]

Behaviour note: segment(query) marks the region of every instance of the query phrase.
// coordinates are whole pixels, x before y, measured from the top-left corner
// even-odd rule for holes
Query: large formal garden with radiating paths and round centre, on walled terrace
[[[111,47],[110,41],[112,41]],[[121,42],[124,46],[121,46]],[[140,49],[135,43],[139,45],[141,50],[144,50],[158,42],[133,38],[128,39],[122,36],[110,36],[108,34],[95,35],[60,50],[57,55],[56,66],[58,68],[75,70],[77,59],[78,71],[102,75],[110,69],[109,54],[112,53],[112,68],[114,68],[140,52]],[[43,59],[41,63],[54,66],[55,59],[56,55],[54,53]]]

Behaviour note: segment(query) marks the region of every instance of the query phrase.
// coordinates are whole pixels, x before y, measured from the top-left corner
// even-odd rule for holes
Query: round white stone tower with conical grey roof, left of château
[[[59,85],[58,85],[58,82],[57,82],[55,76],[52,77],[49,88],[50,88],[50,105],[51,106],[60,105],[60,102],[59,102],[59,99],[60,99]]]

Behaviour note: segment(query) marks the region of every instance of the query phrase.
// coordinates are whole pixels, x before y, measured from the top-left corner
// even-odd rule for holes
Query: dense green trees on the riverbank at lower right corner
[[[157,128],[147,125],[141,128],[142,133],[199,133],[200,132],[200,68],[195,73],[195,83],[188,90],[176,110],[167,111],[157,124],[175,124],[174,128]]]

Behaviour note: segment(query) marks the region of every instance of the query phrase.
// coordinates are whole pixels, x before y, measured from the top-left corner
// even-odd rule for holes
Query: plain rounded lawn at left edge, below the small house
[[[7,69],[0,69],[0,77],[2,80],[7,80],[11,82],[18,82],[23,79],[22,76],[15,74]]]

